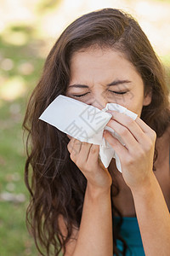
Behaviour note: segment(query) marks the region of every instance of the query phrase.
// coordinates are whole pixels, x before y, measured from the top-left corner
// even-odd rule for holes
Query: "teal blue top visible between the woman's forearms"
[[[170,151],[169,151],[170,166]],[[113,218],[113,224],[117,224],[119,217]],[[145,256],[142,239],[140,236],[139,224],[136,217],[123,217],[120,235],[127,242],[126,256]],[[117,248],[122,252],[122,241],[116,240]]]

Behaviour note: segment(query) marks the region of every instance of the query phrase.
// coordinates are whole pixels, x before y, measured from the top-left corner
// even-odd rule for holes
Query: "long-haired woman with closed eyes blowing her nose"
[[[38,119],[59,94],[99,109],[116,102],[138,114],[133,121],[111,112],[107,125],[126,147],[104,134],[122,173],[114,159],[107,169],[102,165],[98,145],[69,140]],[[45,255],[62,250],[65,256],[168,255],[169,123],[161,63],[139,24],[118,9],[71,23],[48,55],[24,121],[27,147],[31,143],[27,221],[38,250],[45,247]]]

